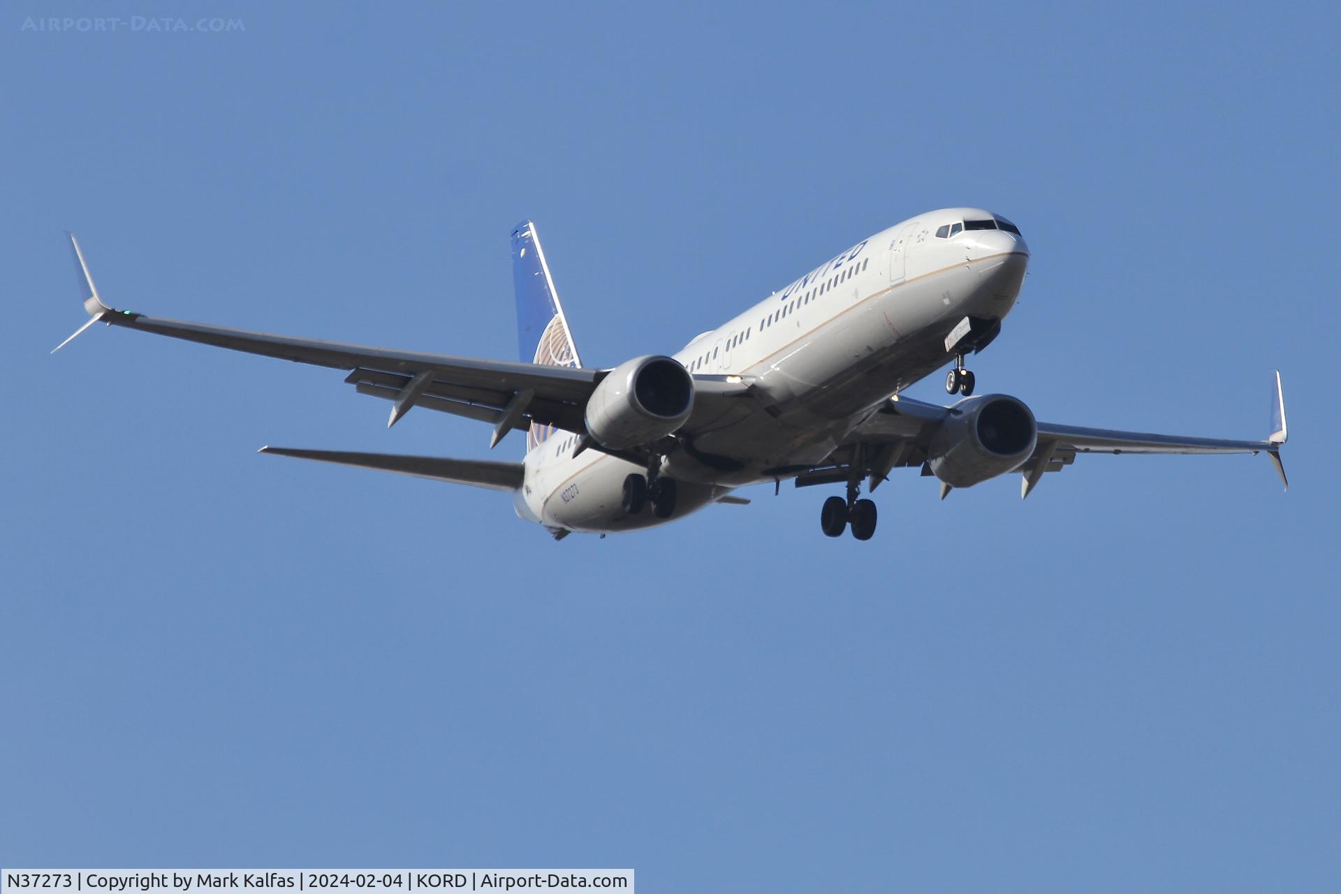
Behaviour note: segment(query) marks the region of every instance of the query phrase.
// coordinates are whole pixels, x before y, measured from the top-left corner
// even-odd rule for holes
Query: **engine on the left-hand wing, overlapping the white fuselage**
[[[636,357],[610,370],[587,401],[597,444],[625,450],[676,432],[693,410],[693,377],[669,357]]]

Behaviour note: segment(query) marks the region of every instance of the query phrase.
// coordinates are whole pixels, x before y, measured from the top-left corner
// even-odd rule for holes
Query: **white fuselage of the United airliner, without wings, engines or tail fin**
[[[945,339],[966,318],[1010,312],[1029,248],[1006,229],[937,236],[971,218],[992,214],[943,209],[881,231],[672,355],[692,374],[746,378],[756,395],[662,460],[658,472],[679,485],[673,519],[823,461],[890,395],[952,362]],[[625,477],[648,469],[594,449],[573,456],[577,436],[552,432],[527,452],[520,517],[582,532],[672,520],[621,507]]]

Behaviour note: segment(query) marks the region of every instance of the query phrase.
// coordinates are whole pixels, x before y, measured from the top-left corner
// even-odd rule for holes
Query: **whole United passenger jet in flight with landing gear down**
[[[520,362],[417,354],[148,316],[106,304],[70,233],[80,296],[95,322],[249,354],[347,370],[359,394],[492,426],[489,448],[526,430],[520,462],[263,446],[261,453],[503,491],[516,515],[555,539],[634,531],[713,504],[746,485],[839,487],[821,529],[869,540],[864,497],[894,469],[940,483],[940,497],[1021,474],[1021,499],[1081,453],[1266,453],[1287,488],[1281,373],[1265,441],[1175,437],[1039,422],[1019,398],[974,395],[970,354],[1000,334],[1029,247],[979,208],[927,212],[838,252],[780,292],[669,355],[583,366],[535,224],[512,229]],[[52,351],[55,353],[55,351]],[[901,393],[949,365],[940,406]]]

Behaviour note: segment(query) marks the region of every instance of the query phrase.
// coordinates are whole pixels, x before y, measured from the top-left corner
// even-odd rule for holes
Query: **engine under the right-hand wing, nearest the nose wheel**
[[[932,436],[927,462],[937,478],[956,488],[1018,469],[1034,453],[1038,422],[1021,401],[984,394],[960,401]]]

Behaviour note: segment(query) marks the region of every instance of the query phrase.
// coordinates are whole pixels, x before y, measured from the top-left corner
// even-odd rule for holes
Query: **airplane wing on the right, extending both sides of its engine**
[[[1074,462],[1080,453],[1110,453],[1114,456],[1122,453],[1266,453],[1281,476],[1281,483],[1289,487],[1285,466],[1281,464],[1281,445],[1285,444],[1289,432],[1279,373],[1275,374],[1273,397],[1273,432],[1265,441],[1181,437],[1038,422],[1038,442],[1034,453],[1018,469],[1023,476],[1021,499],[1030,495],[1043,473],[1059,472]],[[857,426],[849,442],[838,448],[830,461],[798,474],[797,484],[805,487],[806,484],[846,480],[852,464],[856,461],[864,466],[862,477],[870,476],[870,489],[874,491],[892,469],[921,466],[927,461],[928,444],[948,413],[948,407],[935,403],[905,397],[890,399]],[[929,470],[924,469],[923,473],[929,474]]]

